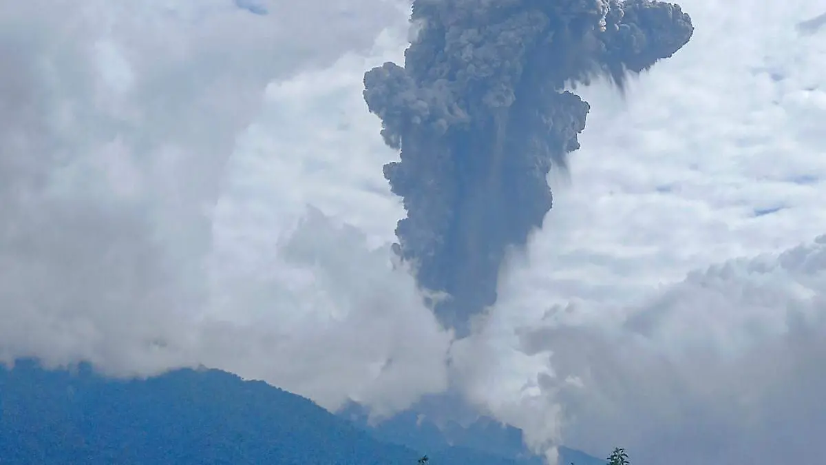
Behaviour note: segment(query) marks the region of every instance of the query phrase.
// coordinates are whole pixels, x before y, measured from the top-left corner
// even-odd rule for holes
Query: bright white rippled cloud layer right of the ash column
[[[692,269],[826,231],[826,47],[795,28],[826,2],[680,3],[695,36],[626,101],[608,86],[578,90],[592,104],[582,150],[532,254],[554,263],[557,303],[593,298],[595,283],[630,303]]]

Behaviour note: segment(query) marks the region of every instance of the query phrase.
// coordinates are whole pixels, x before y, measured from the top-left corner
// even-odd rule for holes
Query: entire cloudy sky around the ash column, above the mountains
[[[404,2],[0,0],[0,357],[382,413],[454,376],[540,450],[811,461],[826,30],[795,25],[826,0],[681,5],[695,36],[627,98],[578,90],[546,227],[452,343],[390,262],[396,154],[361,96]]]

